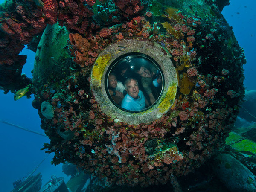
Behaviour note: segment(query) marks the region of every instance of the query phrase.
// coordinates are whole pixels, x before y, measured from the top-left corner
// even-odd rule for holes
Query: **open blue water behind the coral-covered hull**
[[[0,3],[3,2],[0,0]],[[247,89],[256,90],[256,1],[230,0],[230,5],[224,8],[222,14],[233,27],[240,46],[244,48],[247,59],[244,65],[244,85]],[[32,77],[35,53],[24,48],[21,54],[28,55],[23,73]],[[38,111],[31,105],[33,95],[31,99],[23,97],[17,101],[14,101],[13,96],[13,93],[5,95],[0,90],[0,119],[44,134],[40,128]],[[0,192],[11,191],[12,182],[29,174],[47,156],[45,151],[40,150],[44,143],[49,143],[49,139],[0,122]],[[62,173],[61,165],[50,164],[52,157],[53,154],[50,154],[35,173],[41,172],[43,184],[52,174],[64,177],[67,182],[69,177]]]

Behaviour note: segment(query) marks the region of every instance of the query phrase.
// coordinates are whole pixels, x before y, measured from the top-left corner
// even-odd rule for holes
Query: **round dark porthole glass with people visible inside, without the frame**
[[[148,110],[163,91],[163,73],[153,58],[141,53],[122,55],[110,65],[105,87],[116,107],[128,112]]]

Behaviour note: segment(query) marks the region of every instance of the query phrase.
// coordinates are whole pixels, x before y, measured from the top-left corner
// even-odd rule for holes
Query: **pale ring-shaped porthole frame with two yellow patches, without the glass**
[[[105,76],[112,62],[125,54],[135,52],[150,55],[160,66],[165,79],[162,95],[148,110],[131,113],[116,107],[108,98],[105,89]],[[171,55],[162,46],[142,39],[124,39],[106,47],[98,56],[91,73],[91,88],[101,110],[114,119],[115,122],[125,122],[130,125],[150,123],[160,119],[175,101],[177,93],[177,73],[171,61]]]

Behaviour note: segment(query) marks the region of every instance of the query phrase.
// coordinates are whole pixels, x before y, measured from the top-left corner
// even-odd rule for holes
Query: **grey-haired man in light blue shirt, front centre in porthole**
[[[125,90],[127,94],[122,100],[121,107],[130,111],[140,111],[146,108],[148,102],[141,90],[139,90],[138,81],[134,78],[125,80]]]

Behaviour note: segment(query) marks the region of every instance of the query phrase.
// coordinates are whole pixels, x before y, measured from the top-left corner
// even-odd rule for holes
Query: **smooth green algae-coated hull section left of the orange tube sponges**
[[[65,27],[58,26],[58,24],[47,26],[35,56],[34,85],[58,82],[69,76],[70,67],[73,67],[74,63],[67,49],[68,39],[69,32]]]

